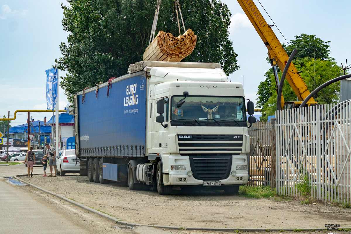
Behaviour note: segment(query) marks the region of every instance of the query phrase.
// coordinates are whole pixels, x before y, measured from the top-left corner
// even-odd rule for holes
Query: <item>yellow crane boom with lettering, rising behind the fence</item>
[[[283,71],[289,56],[278,40],[276,34],[274,34],[271,26],[267,24],[266,20],[263,18],[262,14],[259,12],[252,0],[238,0],[238,2],[251,21],[253,27],[256,29],[258,35],[266,45],[268,49],[268,56],[272,61],[272,66],[274,67],[275,65],[278,65],[280,70]],[[310,94],[310,91],[293,63],[290,64],[285,79],[289,82],[291,88],[300,100],[300,102],[294,102],[294,104],[298,106],[299,103],[301,103]],[[279,80],[276,80],[276,82],[278,87]],[[313,98],[311,98],[307,103],[309,105],[317,104]],[[281,107],[283,108],[283,106],[284,99],[282,98]]]

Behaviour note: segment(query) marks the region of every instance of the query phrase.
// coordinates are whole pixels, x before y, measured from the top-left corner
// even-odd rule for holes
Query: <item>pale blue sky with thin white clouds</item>
[[[52,67],[54,59],[62,56],[59,45],[67,42],[68,35],[62,29],[61,2],[67,5],[63,0],[0,0],[1,116],[7,116],[10,111],[12,118],[14,112],[20,109],[46,109],[45,70]],[[257,87],[265,79],[265,71],[271,67],[266,61],[267,49],[238,2],[222,2],[227,4],[232,14],[229,39],[238,54],[240,66],[230,74],[230,79],[232,82],[244,83],[245,97],[256,105]],[[273,22],[258,0],[253,2],[267,23],[272,25]],[[260,3],[274,21],[275,26],[272,28],[280,42],[286,44],[277,27],[288,42],[302,33],[314,34],[323,41],[331,41],[330,56],[336,59],[338,65],[345,65],[346,59],[351,63],[351,1],[260,0]],[[59,71],[59,76],[65,74]],[[66,107],[68,101],[62,88],[59,88],[59,101],[60,109]],[[44,120],[44,116],[49,119],[51,115],[31,113],[31,118]],[[27,113],[19,113],[11,125],[20,125],[26,119]]]

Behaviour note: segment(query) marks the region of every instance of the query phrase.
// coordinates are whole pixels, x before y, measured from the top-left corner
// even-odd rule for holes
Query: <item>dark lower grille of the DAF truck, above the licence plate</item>
[[[228,178],[232,167],[232,155],[213,156],[189,156],[190,167],[193,176],[198,180],[223,180]]]

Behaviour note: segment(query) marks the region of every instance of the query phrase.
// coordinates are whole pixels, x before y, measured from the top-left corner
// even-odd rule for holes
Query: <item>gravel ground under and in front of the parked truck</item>
[[[23,177],[39,187],[61,194],[124,221],[149,225],[216,228],[322,228],[325,224],[351,226],[351,209],[325,203],[249,199],[220,192],[183,192],[160,196],[131,191],[124,184],[91,183],[86,176]],[[335,232],[334,232],[335,233]]]

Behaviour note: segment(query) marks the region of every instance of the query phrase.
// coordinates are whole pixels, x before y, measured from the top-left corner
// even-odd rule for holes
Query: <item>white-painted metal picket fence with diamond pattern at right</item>
[[[276,112],[277,193],[351,199],[351,102]]]

